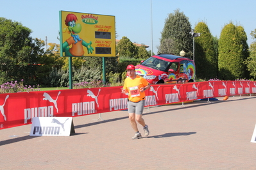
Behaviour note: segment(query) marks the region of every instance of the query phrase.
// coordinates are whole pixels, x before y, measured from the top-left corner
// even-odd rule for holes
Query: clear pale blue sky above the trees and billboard
[[[250,35],[256,29],[255,6],[255,0],[8,0],[1,1],[0,17],[30,28],[32,38],[46,40],[47,36],[48,43],[60,43],[59,11],[112,15],[116,39],[126,36],[131,42],[148,45],[148,50],[157,54],[165,20],[178,8],[189,18],[192,28],[203,21],[218,38],[230,22],[243,26],[250,45],[256,41]]]

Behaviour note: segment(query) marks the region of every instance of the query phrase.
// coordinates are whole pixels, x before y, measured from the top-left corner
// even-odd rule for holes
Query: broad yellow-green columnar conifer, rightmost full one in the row
[[[219,38],[219,78],[234,80],[245,78],[244,38],[241,28],[237,29],[232,22],[226,24]]]

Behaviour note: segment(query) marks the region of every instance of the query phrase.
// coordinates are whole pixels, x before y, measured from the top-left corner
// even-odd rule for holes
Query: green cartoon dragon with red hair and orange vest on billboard
[[[71,37],[62,44],[62,51],[65,52],[65,56],[83,56],[83,46],[87,47],[88,54],[92,54],[92,51],[94,50],[91,46],[91,41],[87,43],[79,37],[78,33],[81,32],[81,24],[76,23],[76,20],[78,19],[73,13],[69,13],[65,19],[67,28],[65,28],[64,33],[67,32],[71,34]]]

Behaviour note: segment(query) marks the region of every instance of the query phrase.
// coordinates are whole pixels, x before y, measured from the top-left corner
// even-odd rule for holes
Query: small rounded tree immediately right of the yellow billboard
[[[123,38],[117,43],[116,49],[119,56],[135,58],[137,55],[136,45],[134,45],[126,36],[123,36]]]

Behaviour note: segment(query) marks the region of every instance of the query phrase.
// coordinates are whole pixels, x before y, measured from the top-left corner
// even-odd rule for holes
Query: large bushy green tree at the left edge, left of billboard
[[[0,18],[1,82],[35,79],[35,63],[44,50],[31,33],[31,29],[19,22]]]

